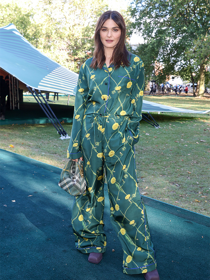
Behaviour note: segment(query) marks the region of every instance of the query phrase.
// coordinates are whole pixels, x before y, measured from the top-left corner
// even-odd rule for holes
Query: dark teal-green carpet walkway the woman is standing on
[[[57,185],[61,169],[0,152],[2,280],[144,279],[122,272],[122,248],[109,220],[106,188],[107,250],[94,265],[74,246],[74,197]],[[209,218],[154,199],[144,201],[160,280],[209,280]]]

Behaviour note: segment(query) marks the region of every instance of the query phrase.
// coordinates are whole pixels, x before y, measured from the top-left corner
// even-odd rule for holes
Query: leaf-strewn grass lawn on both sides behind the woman
[[[27,98],[27,100],[25,100]],[[33,102],[34,97],[24,97]],[[148,96],[145,100],[193,110],[210,108],[209,99]],[[53,96],[50,95],[50,100]],[[67,96],[56,103],[67,105]],[[71,105],[74,97],[70,97]],[[69,101],[70,104],[70,101]],[[209,216],[210,116],[152,113],[161,128],[141,121],[135,145],[139,189],[143,195]],[[70,135],[71,125],[62,124]],[[51,124],[1,125],[0,148],[64,167],[69,141],[60,140]],[[12,145],[12,146],[10,146]]]

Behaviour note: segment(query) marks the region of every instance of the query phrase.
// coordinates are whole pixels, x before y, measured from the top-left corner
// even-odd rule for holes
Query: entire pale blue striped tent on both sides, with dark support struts
[[[30,91],[57,129],[57,132],[61,135],[60,138],[69,138],[42,93],[59,92],[75,95],[74,89],[77,85],[78,74],[66,69],[41,53],[31,45],[22,34],[20,34],[14,24],[0,27],[0,38],[0,70],[4,71],[6,75],[11,75],[10,92],[13,97],[13,108],[15,103],[15,93],[17,93],[16,101],[19,105],[18,89],[23,88]],[[204,114],[210,110],[193,111],[144,100],[142,111],[147,112],[150,115],[150,112]],[[150,121],[146,114],[143,114],[143,120],[146,120],[147,122]],[[159,127],[155,120],[154,122],[152,121],[152,123],[150,121],[150,124],[156,128]]]

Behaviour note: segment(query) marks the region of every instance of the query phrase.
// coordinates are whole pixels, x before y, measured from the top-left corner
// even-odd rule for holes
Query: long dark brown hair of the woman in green
[[[128,60],[129,52],[125,46],[125,35],[126,35],[125,21],[120,13],[118,13],[117,11],[110,10],[103,13],[99,17],[99,20],[96,25],[95,36],[94,36],[95,50],[93,53],[92,62],[90,64],[90,67],[92,68],[98,67],[101,69],[106,61],[106,57],[104,54],[104,46],[100,38],[100,30],[104,22],[109,19],[113,20],[121,30],[120,40],[113,50],[110,62],[114,63],[116,69],[119,68],[120,65],[122,65],[123,67],[130,65]]]

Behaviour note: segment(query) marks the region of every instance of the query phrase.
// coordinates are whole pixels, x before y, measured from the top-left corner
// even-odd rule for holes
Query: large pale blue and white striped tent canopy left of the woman
[[[34,89],[74,95],[78,74],[48,58],[14,24],[0,27],[0,67]]]

